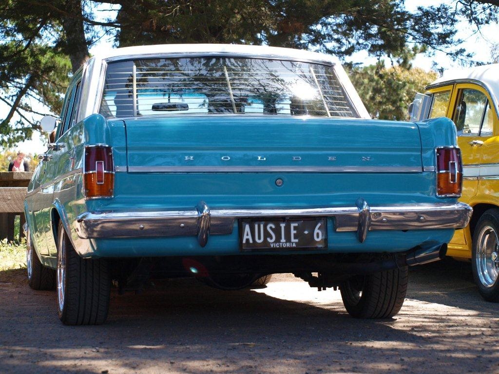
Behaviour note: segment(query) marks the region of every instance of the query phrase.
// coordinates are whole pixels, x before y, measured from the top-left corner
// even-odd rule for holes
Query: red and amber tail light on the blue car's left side
[[[84,191],[86,198],[112,197],[114,167],[111,147],[85,147]]]

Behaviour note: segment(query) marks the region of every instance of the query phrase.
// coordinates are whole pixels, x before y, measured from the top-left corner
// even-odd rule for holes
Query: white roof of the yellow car
[[[499,94],[499,64],[488,64],[476,66],[468,69],[451,69],[444,73],[444,75],[430,85],[426,89],[430,89],[437,86],[442,86],[447,83],[459,83],[459,82],[481,82],[482,85],[495,93]]]

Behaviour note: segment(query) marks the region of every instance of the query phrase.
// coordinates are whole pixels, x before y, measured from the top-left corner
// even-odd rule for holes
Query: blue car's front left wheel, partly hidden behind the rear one
[[[33,290],[55,289],[55,270],[43,266],[31,242],[29,229],[26,233],[26,270],[28,285]]]

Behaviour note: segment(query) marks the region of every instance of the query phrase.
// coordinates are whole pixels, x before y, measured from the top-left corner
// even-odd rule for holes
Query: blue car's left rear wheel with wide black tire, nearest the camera
[[[57,229],[57,311],[64,325],[100,325],[109,309],[111,279],[105,259],[83,259],[62,222]]]

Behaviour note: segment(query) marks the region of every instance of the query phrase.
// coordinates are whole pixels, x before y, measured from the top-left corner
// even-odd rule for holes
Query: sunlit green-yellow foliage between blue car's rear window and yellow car
[[[437,73],[378,63],[350,71],[350,79],[372,118],[407,121],[407,107],[417,92],[437,79]]]

